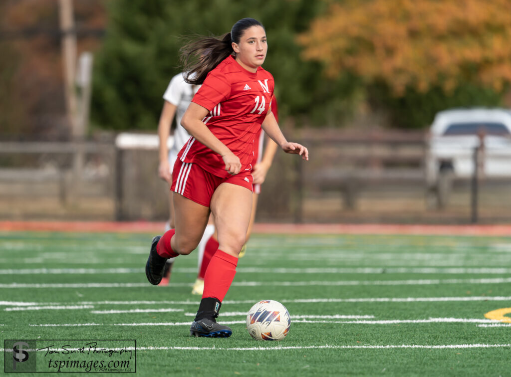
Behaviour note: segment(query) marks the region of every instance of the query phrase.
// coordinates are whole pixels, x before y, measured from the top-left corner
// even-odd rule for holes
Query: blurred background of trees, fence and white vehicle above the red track
[[[182,37],[243,17],[311,156],[277,152],[257,221],[511,221],[508,0],[3,0],[0,219],[166,220],[156,128]],[[435,117],[474,108],[492,110]]]

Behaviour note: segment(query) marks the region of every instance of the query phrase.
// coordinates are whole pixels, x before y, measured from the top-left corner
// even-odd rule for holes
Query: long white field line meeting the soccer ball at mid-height
[[[311,321],[307,319],[293,320],[292,323],[337,323],[337,324],[398,324],[398,323],[498,323],[493,319],[480,318],[428,318],[428,319],[389,319],[389,320],[356,320],[356,321]],[[246,320],[222,321],[222,324],[244,324]],[[32,327],[74,327],[74,326],[190,326],[188,322],[143,322],[143,323],[44,323],[29,324]]]

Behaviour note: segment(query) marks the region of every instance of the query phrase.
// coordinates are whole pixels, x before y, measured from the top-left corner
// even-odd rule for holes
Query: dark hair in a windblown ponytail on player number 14
[[[185,44],[180,49],[184,81],[201,85],[211,70],[234,53],[231,43],[240,43],[245,30],[252,26],[260,26],[264,29],[263,24],[257,19],[243,18],[234,24],[230,33],[220,37],[195,35],[185,38]]]

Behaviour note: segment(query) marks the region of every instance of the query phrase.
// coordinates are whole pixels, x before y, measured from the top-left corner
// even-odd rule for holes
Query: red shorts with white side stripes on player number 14
[[[198,164],[177,159],[172,172],[171,191],[185,198],[209,207],[211,197],[221,183],[237,184],[252,191],[252,175],[242,172],[227,178],[220,178],[205,171]]]

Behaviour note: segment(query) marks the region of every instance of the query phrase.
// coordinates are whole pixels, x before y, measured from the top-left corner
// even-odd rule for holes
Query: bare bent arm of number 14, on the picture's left
[[[192,102],[183,114],[181,126],[200,143],[222,156],[225,170],[229,174],[238,174],[241,170],[241,162],[238,156],[231,152],[202,122],[208,113],[210,113],[208,109]]]

